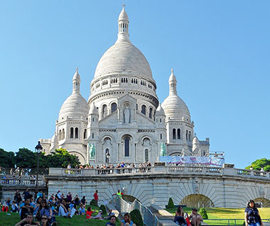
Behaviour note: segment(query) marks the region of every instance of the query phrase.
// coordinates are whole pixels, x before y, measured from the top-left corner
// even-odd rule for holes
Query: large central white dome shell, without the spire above
[[[101,57],[95,71],[95,79],[120,72],[153,80],[146,57],[137,47],[124,40],[117,41]]]

